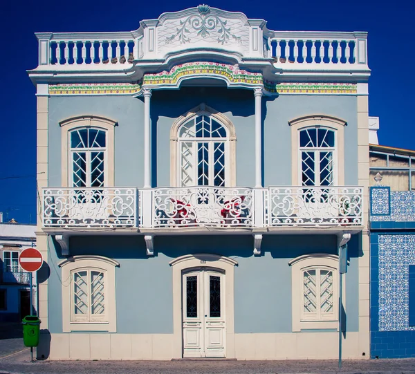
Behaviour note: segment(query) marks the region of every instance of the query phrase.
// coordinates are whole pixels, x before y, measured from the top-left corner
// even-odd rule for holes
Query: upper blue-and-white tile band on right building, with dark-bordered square
[[[389,187],[371,187],[371,216],[373,221],[415,221],[415,192],[389,191]]]

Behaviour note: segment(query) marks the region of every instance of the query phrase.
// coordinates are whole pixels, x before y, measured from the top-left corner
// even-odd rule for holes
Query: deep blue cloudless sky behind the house
[[[272,4],[272,5],[271,5]],[[3,0],[0,212],[35,223],[36,98],[26,70],[37,66],[34,32],[129,31],[142,19],[198,6],[195,1]],[[271,30],[368,31],[369,114],[380,117],[380,144],[415,149],[414,1],[208,1]]]

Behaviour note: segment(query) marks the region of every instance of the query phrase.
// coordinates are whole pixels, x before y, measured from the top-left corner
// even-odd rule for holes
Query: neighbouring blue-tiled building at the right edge
[[[415,356],[415,151],[370,146],[371,357]]]

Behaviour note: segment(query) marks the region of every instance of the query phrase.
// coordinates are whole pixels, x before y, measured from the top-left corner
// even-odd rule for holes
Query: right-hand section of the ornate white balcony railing
[[[268,225],[362,225],[362,187],[270,187]]]

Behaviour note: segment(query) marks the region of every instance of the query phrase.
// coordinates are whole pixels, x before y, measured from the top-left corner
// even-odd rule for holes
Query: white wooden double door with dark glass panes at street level
[[[183,357],[225,357],[225,274],[183,274]]]

